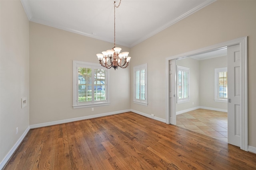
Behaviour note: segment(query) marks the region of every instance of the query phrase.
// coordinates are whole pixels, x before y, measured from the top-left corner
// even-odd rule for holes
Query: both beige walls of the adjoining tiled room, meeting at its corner
[[[227,67],[226,56],[202,61],[184,58],[176,60],[176,65],[190,68],[190,100],[186,103],[176,104],[177,112],[200,106],[228,109],[227,103],[214,101],[214,68]]]

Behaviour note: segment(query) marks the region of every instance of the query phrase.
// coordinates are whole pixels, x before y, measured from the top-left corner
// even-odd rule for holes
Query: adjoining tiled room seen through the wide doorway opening
[[[176,67],[176,125],[228,143],[227,49],[178,59]]]

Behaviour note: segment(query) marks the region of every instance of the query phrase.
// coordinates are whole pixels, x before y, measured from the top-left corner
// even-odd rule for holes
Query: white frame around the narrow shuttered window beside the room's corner
[[[136,99],[136,71],[145,69],[145,100]],[[148,106],[148,64],[141,64],[138,66],[133,67],[133,81],[134,81],[134,88],[133,88],[133,102],[135,104],[140,104],[144,106]]]

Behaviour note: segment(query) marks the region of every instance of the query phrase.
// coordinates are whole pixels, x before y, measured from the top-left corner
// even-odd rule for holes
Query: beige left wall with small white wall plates
[[[29,21],[20,1],[1,0],[0,11],[1,162],[29,127]]]

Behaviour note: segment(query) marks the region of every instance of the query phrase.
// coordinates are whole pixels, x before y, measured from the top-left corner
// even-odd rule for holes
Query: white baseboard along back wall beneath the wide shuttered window
[[[119,113],[125,113],[128,111],[130,111],[130,109],[113,111],[113,112],[109,112],[109,113],[101,113],[98,115],[76,117],[76,118],[72,118],[72,119],[64,119],[64,120],[59,120],[59,121],[51,121],[51,122],[47,122],[47,123],[40,123],[40,124],[30,125],[30,129],[34,129],[34,128],[38,128],[38,127],[46,127],[46,126],[51,126],[51,125],[58,125],[58,124],[62,124],[62,123],[69,123],[69,122],[73,122],[73,121],[92,119],[92,118],[103,117],[103,116],[109,116],[109,115],[115,115],[115,114],[119,114]]]

